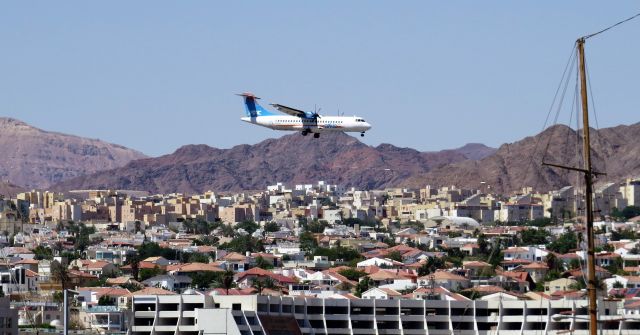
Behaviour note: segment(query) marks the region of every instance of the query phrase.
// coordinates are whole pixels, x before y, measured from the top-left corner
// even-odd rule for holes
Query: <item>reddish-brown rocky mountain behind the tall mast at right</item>
[[[599,177],[597,183],[640,176],[640,123],[592,129],[591,142],[594,170],[607,174]],[[582,140],[576,131],[557,125],[536,136],[503,144],[494,154],[483,159],[455,162],[436,168],[412,176],[404,184],[464,185],[491,188],[497,192],[532,186],[539,191],[548,191],[575,185],[582,177],[576,172],[543,166],[543,160],[582,167],[581,152]]]

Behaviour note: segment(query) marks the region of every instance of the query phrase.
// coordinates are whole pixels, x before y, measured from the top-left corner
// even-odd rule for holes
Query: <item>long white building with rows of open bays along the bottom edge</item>
[[[511,300],[513,299],[513,300]],[[135,296],[130,335],[587,334],[586,300]],[[640,316],[599,301],[601,334],[640,334]]]

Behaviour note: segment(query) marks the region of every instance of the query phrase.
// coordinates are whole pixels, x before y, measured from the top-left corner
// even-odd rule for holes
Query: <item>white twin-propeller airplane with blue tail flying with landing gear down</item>
[[[299,109],[279,104],[271,104],[278,111],[286,114],[276,114],[266,110],[258,104],[258,97],[252,93],[237,94],[244,98],[244,107],[247,116],[242,121],[274,130],[300,131],[302,136],[313,134],[314,138],[320,137],[320,133],[331,131],[358,132],[360,136],[371,129],[371,125],[359,116],[323,116],[314,112],[305,112]]]

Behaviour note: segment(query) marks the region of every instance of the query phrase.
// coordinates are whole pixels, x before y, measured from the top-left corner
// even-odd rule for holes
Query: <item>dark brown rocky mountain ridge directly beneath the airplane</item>
[[[323,134],[319,139],[296,133],[231,149],[187,145],[170,155],[133,161],[56,187],[194,193],[261,190],[276,182],[300,184],[325,180],[372,189],[398,185],[412,176],[470,157],[483,157],[492,150],[495,149],[473,145],[420,152],[391,144],[371,147],[343,133]]]

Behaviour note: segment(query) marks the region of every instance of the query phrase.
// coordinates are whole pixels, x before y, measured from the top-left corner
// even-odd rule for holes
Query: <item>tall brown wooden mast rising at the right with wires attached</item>
[[[593,237],[593,173],[591,171],[591,143],[589,139],[589,106],[584,59],[584,37],[576,41],[579,59],[580,96],[582,98],[582,132],[584,155],[585,204],[587,217],[587,292],[589,293],[589,334],[598,333],[598,306],[596,298],[595,243]]]

